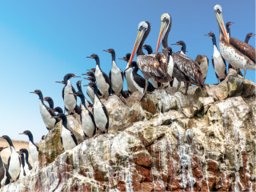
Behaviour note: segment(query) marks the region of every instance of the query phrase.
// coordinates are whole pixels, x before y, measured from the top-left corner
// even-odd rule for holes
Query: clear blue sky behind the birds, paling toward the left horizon
[[[155,50],[161,15],[169,13],[173,22],[169,44],[183,40],[190,58],[197,54],[211,58],[212,42],[203,34],[211,31],[218,39],[216,4],[222,6],[224,22],[235,22],[232,37],[244,41],[247,33],[255,34],[255,1],[250,0],[1,1],[1,136],[27,140],[18,133],[31,130],[34,140],[40,141],[47,130],[39,113],[38,96],[29,92],[42,90],[44,97],[54,99],[55,106],[63,107],[63,86],[55,81],[67,73],[80,75],[94,67],[95,62],[86,58],[92,53],[99,55],[102,70],[108,74],[111,58],[102,50],[114,48],[117,58],[131,52],[141,21],[151,23],[146,44]],[[255,37],[249,44],[255,45]],[[179,47],[173,46],[173,50]],[[117,63],[125,69],[125,62]],[[248,70],[246,78],[255,82],[254,72]],[[207,75],[206,83],[217,82],[211,62]],[[72,80],[74,86],[77,80]]]

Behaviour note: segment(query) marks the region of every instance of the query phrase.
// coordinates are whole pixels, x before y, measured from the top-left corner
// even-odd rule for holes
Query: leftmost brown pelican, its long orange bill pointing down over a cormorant
[[[167,74],[167,60],[164,54],[144,54],[142,50],[143,43],[145,42],[148,34],[150,34],[150,23],[140,22],[138,24],[138,35],[135,40],[134,50],[130,56],[129,66],[134,58],[134,54],[137,54],[137,65],[142,71],[146,80],[145,92],[149,84],[149,78],[154,78],[156,82],[170,82],[171,77]]]

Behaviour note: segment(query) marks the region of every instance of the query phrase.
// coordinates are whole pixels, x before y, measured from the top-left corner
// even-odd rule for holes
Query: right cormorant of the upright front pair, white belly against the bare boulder
[[[94,89],[93,114],[94,114],[95,125],[98,128],[98,134],[100,130],[107,134],[107,130],[109,128],[109,114],[106,110],[106,106],[104,106],[101,100],[98,98],[96,83],[90,82],[86,86],[91,86]]]

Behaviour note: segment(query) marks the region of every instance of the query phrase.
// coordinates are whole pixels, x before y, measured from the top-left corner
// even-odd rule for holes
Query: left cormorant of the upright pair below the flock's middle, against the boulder
[[[86,138],[91,138],[96,131],[96,125],[94,122],[94,115],[90,113],[90,110],[87,109],[86,103],[85,103],[85,96],[82,94],[82,92],[78,91],[75,93],[79,98],[81,98],[81,124],[82,124],[82,130],[86,136]]]

